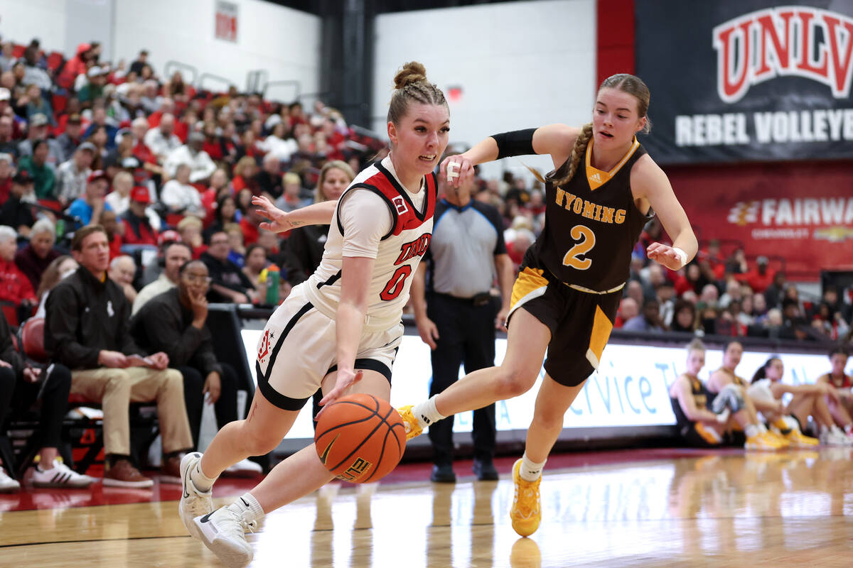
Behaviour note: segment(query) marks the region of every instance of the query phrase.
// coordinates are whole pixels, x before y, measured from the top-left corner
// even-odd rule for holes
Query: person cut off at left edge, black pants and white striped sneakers
[[[59,446],[62,417],[68,407],[68,391],[71,390],[71,372],[61,364],[47,369],[30,366],[20,358],[12,343],[12,330],[6,316],[0,312],[0,425],[6,419],[9,405],[29,407],[41,399],[40,426],[37,436],[42,445],[38,452],[39,461],[32,474],[35,487],[81,489],[95,479],[80,475],[56,459]],[[4,464],[11,469],[14,464]],[[11,479],[0,467],[0,492],[17,491],[20,484]]]

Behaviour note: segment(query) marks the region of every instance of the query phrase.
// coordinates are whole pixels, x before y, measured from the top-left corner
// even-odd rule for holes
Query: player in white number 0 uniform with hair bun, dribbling
[[[223,427],[203,456],[194,452],[181,463],[183,524],[226,565],[252,560],[244,532],[265,513],[334,476],[312,444],[279,463],[252,491],[213,511],[219,474],[247,456],[274,450],[318,387],[326,394],[321,404],[350,393],[389,399],[411,275],[432,236],[432,172],[450,131],[444,94],[427,82],[420,63],[403,66],[394,83],[388,110],[392,152],[357,175],[336,204],[284,214],[264,199],[254,202],[264,206],[271,221],[265,227],[272,230],[306,222],[331,221],[331,227],[320,267],[293,289],[264,329],[249,416]]]

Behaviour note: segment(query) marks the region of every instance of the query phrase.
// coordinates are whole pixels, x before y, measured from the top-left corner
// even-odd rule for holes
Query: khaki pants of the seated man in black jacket
[[[193,437],[189,432],[187,409],[183,404],[183,376],[174,369],[74,370],[71,393],[101,403],[104,413],[104,453],[128,456],[131,453],[131,402],[157,401],[163,451],[189,450]]]

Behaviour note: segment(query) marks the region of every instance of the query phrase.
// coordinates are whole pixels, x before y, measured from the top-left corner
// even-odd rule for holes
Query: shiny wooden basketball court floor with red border
[[[476,481],[459,462],[456,485],[413,481],[428,469],[404,464],[380,484],[327,486],[267,516],[249,536],[252,566],[846,568],[853,559],[848,449],[554,456],[531,538],[509,525],[512,462],[497,461],[497,482]],[[218,485],[218,504],[251,486]],[[179,492],[96,485],[0,496],[0,566],[219,566],[185,533]],[[90,504],[99,499],[125,502]]]

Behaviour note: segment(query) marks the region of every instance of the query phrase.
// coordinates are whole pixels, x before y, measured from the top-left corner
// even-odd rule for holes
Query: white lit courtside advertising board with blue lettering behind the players
[[[255,368],[254,353],[262,330],[242,330],[243,342],[249,356],[250,369]],[[507,341],[496,341],[496,361],[502,361]],[[680,347],[651,347],[610,343],[604,350],[601,367],[589,377],[572,408],[566,412],[563,427],[632,427],[666,426],[676,423],[670,405],[669,387],[684,371],[687,353]],[[752,374],[769,358],[769,353],[744,352],[738,375],[751,379]],[[705,369],[699,374],[707,380],[712,370],[722,365],[722,351],[711,350],[705,355]],[[815,382],[829,370],[826,355],[784,354],[784,382],[801,384]],[[848,371],[848,373],[853,370]],[[460,376],[464,371],[460,369]],[[533,417],[539,384],[527,393],[496,406],[498,430],[526,430]],[[395,406],[415,404],[427,399],[432,379],[429,347],[419,336],[404,336],[397,353],[392,374],[391,402]],[[313,438],[310,422],[310,401],[293,424],[287,438]],[[473,415],[456,415],[454,432],[470,432]]]

